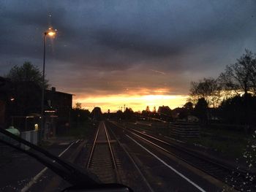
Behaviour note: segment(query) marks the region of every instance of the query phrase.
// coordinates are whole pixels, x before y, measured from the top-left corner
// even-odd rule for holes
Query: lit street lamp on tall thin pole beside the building
[[[41,103],[42,128],[41,128],[41,131],[40,131],[41,134],[43,134],[43,132],[45,131],[44,130],[45,129],[45,123],[44,123],[44,100],[45,100],[45,47],[46,47],[46,37],[47,36],[54,37],[56,35],[56,31],[57,30],[53,30],[53,28],[48,28],[48,31],[45,31],[45,33],[44,33],[44,58],[43,58],[43,65],[42,65],[42,103]]]

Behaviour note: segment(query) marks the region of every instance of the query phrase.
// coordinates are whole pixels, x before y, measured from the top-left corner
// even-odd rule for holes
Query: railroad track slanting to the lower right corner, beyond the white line
[[[114,125],[120,128],[124,128],[123,126],[118,125],[117,123],[110,123],[113,123]],[[247,174],[247,172],[244,172],[240,169],[233,169],[229,166],[225,166],[224,164],[220,164],[219,162],[216,162],[211,158],[203,156],[199,153],[197,154],[194,151],[189,151],[186,148],[181,147],[180,145],[173,145],[173,143],[171,142],[159,139],[152,135],[146,134],[145,132],[138,131],[133,128],[124,129],[128,131],[130,134],[132,134],[134,137],[137,137],[137,139],[143,140],[144,142],[150,145],[154,145],[154,147],[157,147],[159,150],[163,150],[165,151],[165,153],[168,153],[170,155],[175,156],[176,158],[181,159],[187,164],[197,169],[200,169],[200,171],[211,175],[217,180],[220,180],[223,183],[226,183],[227,185],[230,185],[231,187],[239,191],[241,189],[243,189],[243,191],[256,190],[255,183],[249,182],[249,185],[246,185],[246,181],[249,180],[249,174]]]

